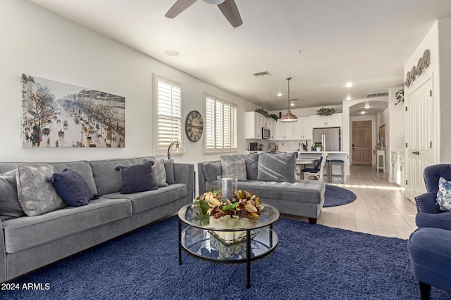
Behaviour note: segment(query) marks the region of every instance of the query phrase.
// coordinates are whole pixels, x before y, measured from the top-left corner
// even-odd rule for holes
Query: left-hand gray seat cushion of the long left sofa
[[[1,223],[6,252],[20,252],[131,214],[130,200],[99,198],[82,207],[66,207],[33,218],[6,220]]]

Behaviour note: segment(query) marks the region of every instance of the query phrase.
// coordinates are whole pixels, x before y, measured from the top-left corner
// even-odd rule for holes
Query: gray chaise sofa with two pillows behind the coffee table
[[[238,190],[250,190],[280,213],[305,216],[314,224],[324,204],[326,185],[323,181],[297,180],[295,162],[293,153],[223,155],[220,161],[199,162],[199,195],[218,189],[217,176],[235,176]]]

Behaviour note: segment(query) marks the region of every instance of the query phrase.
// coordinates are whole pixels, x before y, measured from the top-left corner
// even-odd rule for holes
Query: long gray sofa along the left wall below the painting
[[[51,165],[54,171],[70,169],[85,179],[98,199],[80,207],[65,207],[39,216],[0,216],[0,282],[5,282],[67,256],[118,237],[171,215],[192,202],[194,164],[166,161],[168,186],[121,194],[118,166],[143,164],[154,157],[53,163],[0,163],[1,201],[13,197],[18,164]]]

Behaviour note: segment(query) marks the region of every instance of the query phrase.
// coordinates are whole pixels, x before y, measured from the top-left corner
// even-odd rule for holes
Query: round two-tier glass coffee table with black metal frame
[[[261,207],[259,219],[237,222],[234,228],[224,228],[218,222],[211,225],[208,218],[202,219],[197,214],[195,204],[182,207],[178,211],[178,263],[182,264],[182,250],[206,261],[246,263],[249,289],[251,261],[273,252],[278,242],[273,223],[280,214],[271,205],[261,204]]]

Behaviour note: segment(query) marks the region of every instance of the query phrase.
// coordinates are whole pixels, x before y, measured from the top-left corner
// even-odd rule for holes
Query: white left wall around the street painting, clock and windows
[[[2,162],[66,161],[154,155],[152,74],[183,84],[183,124],[191,110],[203,112],[202,92],[237,103],[238,128],[256,105],[62,18],[25,0],[0,1],[0,155]],[[176,58],[175,58],[176,59]],[[22,148],[21,74],[125,97],[125,148]],[[204,115],[204,114],[203,114]],[[183,125],[184,127],[184,125]],[[176,162],[202,162],[203,141],[183,133],[187,155]],[[238,150],[245,151],[238,131]]]

